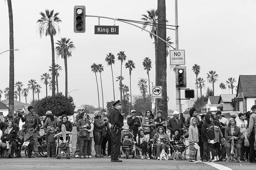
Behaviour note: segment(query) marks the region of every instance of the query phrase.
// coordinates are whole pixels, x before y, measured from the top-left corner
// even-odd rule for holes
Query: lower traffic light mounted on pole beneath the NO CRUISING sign
[[[176,66],[175,77],[176,77],[176,88],[187,87],[186,66]]]

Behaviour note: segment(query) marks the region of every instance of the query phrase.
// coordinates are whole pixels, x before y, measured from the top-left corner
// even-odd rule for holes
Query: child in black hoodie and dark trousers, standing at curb
[[[202,124],[201,132],[202,132],[202,142],[203,142],[203,155],[202,162],[209,163],[212,162],[210,159],[211,152],[211,141],[215,138],[214,127],[212,123],[211,114],[206,114],[205,122]]]

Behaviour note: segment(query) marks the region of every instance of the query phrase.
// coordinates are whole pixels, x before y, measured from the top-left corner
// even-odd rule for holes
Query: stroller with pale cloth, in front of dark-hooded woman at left
[[[72,143],[71,135],[72,132],[66,131],[64,124],[61,126],[61,132],[56,134],[54,137],[57,137],[56,141],[56,158],[61,159],[61,151],[66,155],[66,159],[71,159],[72,155]],[[64,137],[65,136],[65,137]]]

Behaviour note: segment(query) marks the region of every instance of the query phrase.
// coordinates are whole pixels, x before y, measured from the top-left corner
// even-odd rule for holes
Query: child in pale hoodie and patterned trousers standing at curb
[[[197,157],[195,143],[199,142],[198,136],[197,120],[195,117],[192,117],[189,126],[189,163],[198,163],[198,161],[195,161]]]

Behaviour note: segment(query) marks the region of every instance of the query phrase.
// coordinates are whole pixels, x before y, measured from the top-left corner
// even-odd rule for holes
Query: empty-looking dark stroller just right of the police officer
[[[132,129],[124,129],[122,131],[122,136],[121,136],[121,151],[120,151],[120,157],[121,153],[126,154],[126,159],[129,158],[129,155],[133,155],[132,157],[135,158],[135,143],[133,139],[133,130]]]

